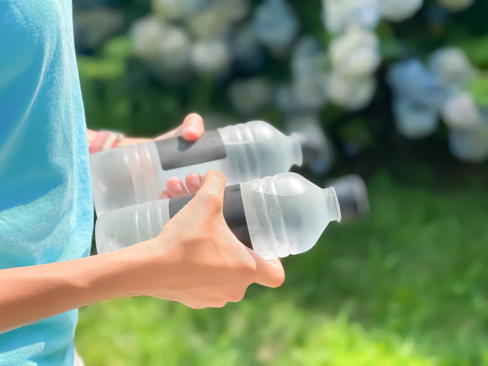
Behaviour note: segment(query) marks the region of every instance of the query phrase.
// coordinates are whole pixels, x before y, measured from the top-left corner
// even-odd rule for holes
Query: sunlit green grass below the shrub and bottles
[[[223,309],[147,297],[82,309],[86,366],[488,364],[486,193],[384,173],[369,189],[371,215],[284,259],[281,288],[253,285]]]

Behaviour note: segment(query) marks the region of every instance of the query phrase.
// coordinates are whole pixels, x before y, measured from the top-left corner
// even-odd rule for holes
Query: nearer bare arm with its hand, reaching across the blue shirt
[[[0,270],[0,332],[89,303],[149,295],[192,308],[239,301],[253,283],[280,286],[279,261],[240,243],[223,214],[225,177],[202,188],[154,239],[115,252]]]

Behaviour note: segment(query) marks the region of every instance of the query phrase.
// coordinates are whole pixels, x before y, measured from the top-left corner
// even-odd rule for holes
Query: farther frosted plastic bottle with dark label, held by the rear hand
[[[301,165],[298,136],[285,136],[263,121],[205,132],[197,141],[181,137],[117,147],[90,156],[97,215],[154,201],[173,176],[223,171],[227,184],[288,171]]]

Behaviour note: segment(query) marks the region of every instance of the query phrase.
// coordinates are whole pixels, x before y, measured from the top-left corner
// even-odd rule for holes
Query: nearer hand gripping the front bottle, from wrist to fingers
[[[225,223],[222,206],[225,176],[211,170],[201,189],[154,239],[137,243],[143,257],[142,294],[179,301],[194,308],[219,308],[239,301],[247,287],[280,286],[280,261],[267,261],[244,246]]]

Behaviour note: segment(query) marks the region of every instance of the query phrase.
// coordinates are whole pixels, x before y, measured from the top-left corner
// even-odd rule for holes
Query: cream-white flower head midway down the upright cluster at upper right
[[[332,41],[330,57],[334,73],[347,77],[371,75],[381,62],[378,38],[357,26],[349,27]]]

